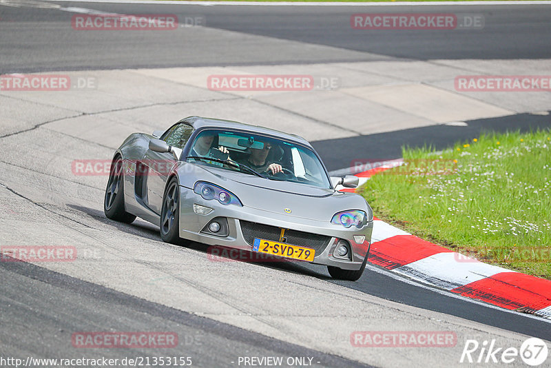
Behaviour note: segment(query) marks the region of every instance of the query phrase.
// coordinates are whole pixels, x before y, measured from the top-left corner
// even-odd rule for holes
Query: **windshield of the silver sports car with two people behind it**
[[[320,159],[311,149],[259,134],[203,130],[191,144],[186,160],[269,180],[331,188]],[[274,173],[272,164],[279,165],[280,170]]]

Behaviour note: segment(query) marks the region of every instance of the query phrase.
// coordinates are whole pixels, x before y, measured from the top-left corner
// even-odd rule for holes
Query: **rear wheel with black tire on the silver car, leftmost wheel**
[[[121,156],[117,156],[112,162],[109,180],[105,188],[103,212],[105,212],[107,218],[114,221],[132,223],[136,220],[136,216],[126,212],[124,192],[123,159],[121,159]]]

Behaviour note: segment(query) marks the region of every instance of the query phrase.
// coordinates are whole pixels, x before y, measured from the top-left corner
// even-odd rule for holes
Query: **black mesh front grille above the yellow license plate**
[[[265,239],[267,241],[280,241],[281,228],[260,223],[251,223],[249,221],[240,221],[241,232],[245,241],[253,245],[255,238]],[[309,232],[299,232],[297,230],[285,230],[286,241],[284,243],[298,245],[300,247],[315,249],[315,254],[320,254],[331,241],[331,236],[311,234]]]

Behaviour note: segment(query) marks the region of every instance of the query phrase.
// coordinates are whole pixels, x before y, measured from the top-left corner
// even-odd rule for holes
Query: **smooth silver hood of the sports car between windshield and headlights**
[[[192,188],[196,181],[209,181],[238,196],[241,203],[247,207],[319,221],[331,221],[335,213],[347,209],[360,209],[368,214],[368,218],[373,216],[371,207],[357,194],[273,181],[192,163],[187,165],[194,165],[195,175],[189,175],[189,169],[185,170],[188,172],[185,181],[189,183],[185,186]],[[181,178],[182,176],[180,185],[184,185]]]

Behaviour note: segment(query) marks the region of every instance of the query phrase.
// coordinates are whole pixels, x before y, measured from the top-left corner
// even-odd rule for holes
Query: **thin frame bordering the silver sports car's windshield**
[[[182,154],[180,155],[180,161],[188,162],[187,161],[187,156],[189,156],[189,152],[191,152],[191,147],[194,145],[195,140],[197,139],[197,136],[199,134],[201,134],[202,132],[205,132],[205,131],[208,131],[208,130],[213,130],[213,131],[218,132],[218,133],[235,132],[235,133],[238,133],[238,134],[248,134],[248,135],[252,134],[252,135],[255,135],[255,136],[266,137],[267,139],[274,139],[274,140],[277,140],[277,141],[282,141],[282,142],[285,142],[285,143],[289,143],[291,145],[301,147],[303,150],[310,151],[314,154],[315,158],[318,159],[318,162],[320,163],[320,165],[323,169],[322,171],[323,171],[323,174],[324,174],[324,178],[326,178],[326,184],[328,185],[328,187],[319,186],[319,188],[333,189],[333,190],[335,189],[335,188],[333,188],[333,185],[331,185],[331,176],[329,176],[329,172],[327,172],[327,168],[325,167],[325,164],[324,164],[322,158],[320,157],[318,152],[316,152],[314,150],[314,148],[311,145],[305,145],[304,143],[301,143],[300,141],[287,139],[287,138],[284,138],[282,136],[278,136],[278,135],[275,135],[275,134],[267,134],[267,133],[264,133],[264,132],[255,132],[254,130],[244,130],[244,129],[233,128],[233,127],[216,127],[216,126],[200,127],[198,129],[194,130],[194,132],[191,134],[191,136],[189,136],[187,144],[185,145],[185,148],[184,148]],[[214,167],[214,168],[220,169],[220,167]],[[221,168],[221,169],[222,170],[227,170],[227,169],[224,169],[224,168]],[[233,170],[228,170],[228,171],[234,172]],[[269,178],[267,178],[267,180],[269,180]],[[310,185],[309,183],[302,183],[302,182],[297,182],[297,181],[282,181],[282,182],[298,183],[298,184],[303,184],[303,185],[309,185],[311,187],[318,187],[318,186],[315,186],[315,185]]]

